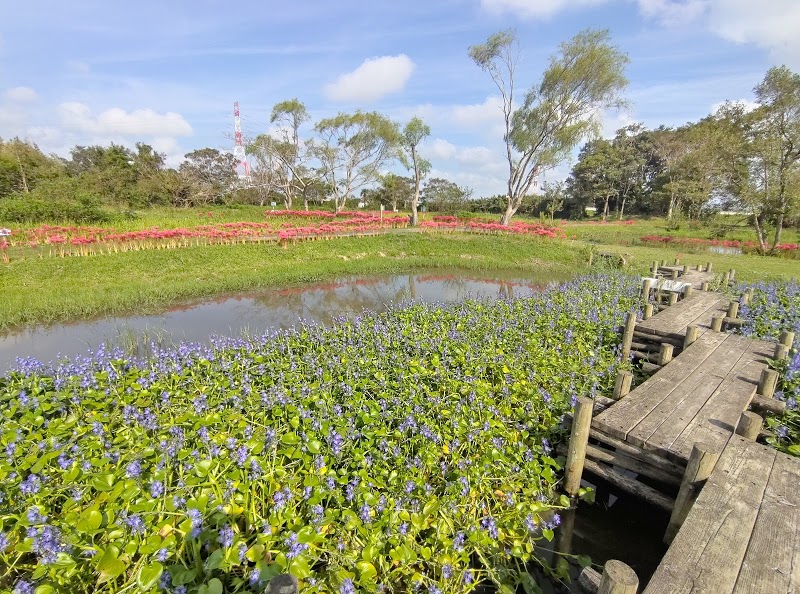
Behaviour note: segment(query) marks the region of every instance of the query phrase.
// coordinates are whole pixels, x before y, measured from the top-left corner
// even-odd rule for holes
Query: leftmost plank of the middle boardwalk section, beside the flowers
[[[704,334],[669,365],[597,415],[592,427],[624,440],[628,432],[667,398],[685,376],[700,367],[726,338],[726,335],[718,332]]]

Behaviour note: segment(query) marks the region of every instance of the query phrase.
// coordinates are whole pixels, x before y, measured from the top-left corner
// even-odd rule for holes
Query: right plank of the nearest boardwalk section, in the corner
[[[778,453],[735,594],[800,589],[800,460]]]

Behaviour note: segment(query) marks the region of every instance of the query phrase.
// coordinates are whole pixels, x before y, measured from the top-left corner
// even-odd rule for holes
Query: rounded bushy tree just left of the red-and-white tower
[[[188,153],[179,171],[191,192],[180,196],[182,205],[209,204],[222,198],[236,181],[235,166],[232,154],[217,149],[204,148]]]

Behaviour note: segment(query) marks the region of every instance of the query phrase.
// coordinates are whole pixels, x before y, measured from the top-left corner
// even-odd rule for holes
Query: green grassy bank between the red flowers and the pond
[[[755,255],[680,252],[674,247],[593,245],[522,236],[395,232],[291,244],[209,245],[0,264],[0,329],[127,312],[146,313],[193,298],[343,275],[430,268],[544,273],[585,272],[589,250],[625,255],[631,272],[677,255],[743,281],[800,277],[800,263]]]

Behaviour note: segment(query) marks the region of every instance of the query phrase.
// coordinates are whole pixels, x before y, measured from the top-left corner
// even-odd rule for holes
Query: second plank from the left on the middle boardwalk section
[[[628,432],[628,441],[667,455],[673,442],[716,392],[739,359],[747,353],[747,349],[746,338],[727,335],[700,367],[686,376],[667,398]],[[747,404],[749,403],[748,400]],[[738,415],[736,420],[739,420]],[[732,433],[733,429],[730,432]],[[682,459],[688,460],[688,457],[689,452],[686,452],[686,456]]]

